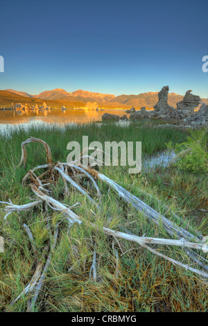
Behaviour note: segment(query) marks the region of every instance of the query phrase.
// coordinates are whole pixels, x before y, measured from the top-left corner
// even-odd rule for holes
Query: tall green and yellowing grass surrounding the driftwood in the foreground
[[[40,144],[27,145],[26,168],[17,168],[22,141],[31,136],[41,138],[51,147],[54,161],[66,162],[67,143],[72,140],[81,143],[83,135],[89,136],[89,142],[96,140],[102,144],[113,140],[141,141],[143,158],[164,151],[168,141],[176,144],[187,139],[187,133],[175,128],[150,128],[141,123],[130,123],[127,127],[92,123],[62,129],[54,126],[15,128],[9,135],[0,135],[0,200],[10,199],[21,205],[34,198],[30,187],[23,187],[21,180],[29,169],[45,162],[45,153]],[[182,226],[196,228],[207,235],[207,215],[200,210],[207,209],[205,174],[193,175],[173,167],[136,175],[128,174],[128,167],[123,166],[101,167],[100,171],[173,220],[158,202],[162,200],[183,218]],[[106,185],[98,184],[103,194],[102,212],[71,188],[69,196],[64,198],[61,179],[53,186],[54,198],[68,205],[81,204],[73,211],[85,223],[73,225],[69,230],[63,216],[52,209],[49,209],[49,223],[44,221],[46,216],[40,208],[12,213],[7,221],[3,221],[5,212],[0,210],[0,235],[5,239],[5,252],[0,253],[0,309],[9,309],[11,300],[17,298],[34,273],[35,257],[23,223],[31,228],[40,259],[44,246],[53,237],[55,223],[62,221],[51,266],[34,311],[207,311],[208,286],[202,277],[155,257],[135,243],[122,240],[117,243],[112,237],[92,229],[87,221],[140,236],[169,237],[166,231],[123,203]],[[98,201],[96,194],[94,198]],[[113,240],[119,252],[119,264],[112,249]],[[89,279],[95,242],[97,282]],[[180,248],[157,248],[184,264],[192,264]],[[12,306],[12,311],[26,311],[27,301],[28,296],[21,298]]]

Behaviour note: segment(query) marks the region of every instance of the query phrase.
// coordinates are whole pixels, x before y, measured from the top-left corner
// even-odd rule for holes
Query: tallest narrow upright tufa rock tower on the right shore
[[[158,93],[158,102],[154,106],[155,115],[158,116],[166,116],[166,114],[171,114],[174,108],[172,108],[168,104],[168,92],[169,92],[169,86],[162,87],[161,91]]]

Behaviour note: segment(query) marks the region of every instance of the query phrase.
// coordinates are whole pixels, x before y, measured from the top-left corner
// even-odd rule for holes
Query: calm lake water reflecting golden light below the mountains
[[[128,110],[128,109],[125,109]],[[0,130],[10,128],[10,126],[26,126],[28,124],[47,124],[56,123],[58,125],[64,125],[65,123],[89,123],[92,121],[102,121],[102,115],[107,112],[111,114],[117,114],[119,117],[125,114],[125,110],[80,110],[80,109],[52,109],[44,112],[34,112],[28,110],[28,112],[18,111],[3,111],[0,110]],[[127,114],[129,116],[129,114]]]

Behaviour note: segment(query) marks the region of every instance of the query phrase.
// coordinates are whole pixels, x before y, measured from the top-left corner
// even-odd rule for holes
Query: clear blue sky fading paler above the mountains
[[[208,98],[207,0],[1,0],[0,89]]]

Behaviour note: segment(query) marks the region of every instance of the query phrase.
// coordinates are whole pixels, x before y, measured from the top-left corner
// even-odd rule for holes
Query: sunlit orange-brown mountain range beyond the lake
[[[14,89],[5,89],[4,91],[6,93],[12,93],[16,94],[17,96],[23,96],[26,100],[26,98],[29,98],[33,101],[35,101],[35,98],[38,100],[47,100],[47,101],[55,101],[55,103],[77,103],[76,106],[85,106],[85,103],[87,102],[97,102],[98,105],[103,107],[112,107],[112,108],[128,108],[131,106],[134,106],[135,108],[141,108],[145,106],[148,109],[153,109],[153,106],[157,103],[158,92],[146,92],[146,93],[140,93],[138,95],[119,95],[115,96],[113,94],[101,94],[101,93],[95,93],[95,92],[88,92],[84,91],[82,89],[78,89],[75,92],[67,92],[64,89],[56,88],[49,91],[44,91],[37,95],[28,94],[26,92],[19,92]],[[175,94],[175,93],[169,93],[168,94],[168,104],[176,108],[176,103],[179,101],[182,101],[182,98],[184,96]],[[31,102],[31,101],[29,101]],[[208,104],[207,98],[202,98],[201,103]],[[1,104],[1,93],[0,93],[0,104]],[[57,104],[58,105],[58,104]],[[70,104],[69,104],[70,105]]]

